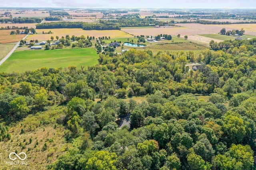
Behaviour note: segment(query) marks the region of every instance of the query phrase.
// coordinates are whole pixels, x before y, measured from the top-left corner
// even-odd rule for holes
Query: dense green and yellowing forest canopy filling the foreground
[[[215,51],[106,52],[87,68],[1,73],[0,139],[11,139],[4,123],[62,104],[66,117],[56,123],[67,142],[83,142],[48,169],[252,170],[255,41],[214,43]],[[193,71],[188,61],[204,64]],[[126,95],[146,101],[127,102]],[[131,128],[118,128],[126,115]]]

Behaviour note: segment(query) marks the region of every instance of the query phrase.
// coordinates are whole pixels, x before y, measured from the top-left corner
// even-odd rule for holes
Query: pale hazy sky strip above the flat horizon
[[[0,0],[0,7],[256,8],[256,0]]]

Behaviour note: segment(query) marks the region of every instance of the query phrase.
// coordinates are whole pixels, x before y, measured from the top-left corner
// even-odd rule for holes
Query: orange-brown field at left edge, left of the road
[[[0,30],[0,43],[15,43],[20,41],[25,35],[19,34],[19,35],[10,35],[10,32],[12,30],[10,29],[1,29]]]

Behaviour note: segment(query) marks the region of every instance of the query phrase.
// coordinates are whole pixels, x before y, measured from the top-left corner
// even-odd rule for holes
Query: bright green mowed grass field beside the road
[[[24,72],[41,67],[92,66],[98,63],[92,48],[28,50],[14,52],[1,66],[0,72]]]

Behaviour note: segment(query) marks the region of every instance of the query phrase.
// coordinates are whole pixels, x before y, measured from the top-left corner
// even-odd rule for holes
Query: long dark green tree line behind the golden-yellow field
[[[120,27],[114,23],[86,23],[86,22],[48,22],[36,25],[37,29],[54,29],[54,28],[82,28],[84,30],[112,30]]]

